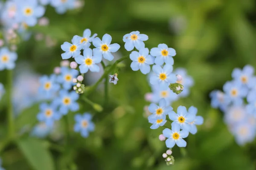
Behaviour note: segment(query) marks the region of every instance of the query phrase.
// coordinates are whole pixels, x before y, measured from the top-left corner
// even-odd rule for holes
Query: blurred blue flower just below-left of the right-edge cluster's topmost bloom
[[[247,88],[242,86],[240,82],[226,82],[223,86],[223,90],[227,99],[232,101],[234,104],[241,104],[242,98],[247,95]]]

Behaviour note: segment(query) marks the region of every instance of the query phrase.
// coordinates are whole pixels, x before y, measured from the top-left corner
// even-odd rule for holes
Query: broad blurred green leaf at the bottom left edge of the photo
[[[20,139],[17,145],[34,170],[54,170],[50,152],[38,139]]]

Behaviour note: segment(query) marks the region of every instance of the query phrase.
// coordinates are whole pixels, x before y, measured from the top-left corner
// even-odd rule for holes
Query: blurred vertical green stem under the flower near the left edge
[[[8,136],[10,139],[14,136],[14,117],[12,108],[12,70],[7,72],[7,114],[8,114]]]

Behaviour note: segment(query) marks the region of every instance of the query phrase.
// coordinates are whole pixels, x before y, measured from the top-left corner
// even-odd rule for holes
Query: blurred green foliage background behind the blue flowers
[[[222,89],[231,80],[233,68],[246,64],[256,66],[256,4],[254,0],[85,0],[83,8],[56,14],[47,7],[49,26],[31,28],[35,33],[50,36],[56,45],[33,37],[18,47],[19,62],[29,62],[38,74],[52,74],[61,61],[60,45],[82,35],[85,28],[101,38],[105,33],[112,42],[119,43],[121,57],[129,54],[124,49],[123,35],[131,31],[147,34],[146,47],[166,43],[175,48],[174,67],[186,68],[195,80],[190,95],[175,102],[187,108],[194,105],[204,124],[198,133],[186,138],[186,150],[173,148],[175,164],[167,166],[162,154],[167,148],[158,139],[163,128],[151,130],[143,117],[148,105],[144,95],[151,91],[146,76],[130,68],[119,71],[117,85],[109,85],[110,101],[103,112],[97,113],[82,100],[80,113],[94,115],[96,130],[84,139],[73,133],[73,116],[69,113],[71,142],[64,145],[65,134],[60,128],[53,140],[21,139],[19,144],[9,143],[0,157],[6,170],[253,170],[256,168],[256,142],[240,147],[227,130],[223,114],[211,108],[209,93]],[[26,68],[23,68],[26,69]],[[0,73],[5,84],[6,71]],[[93,74],[90,74],[93,78]],[[104,93],[99,88],[89,98],[103,105]],[[4,100],[4,99],[3,99]],[[0,110],[0,146],[6,135],[6,108]],[[17,117],[17,131],[36,122],[38,105],[25,109]],[[50,144],[53,143],[54,145]],[[59,148],[60,147],[60,148]],[[64,147],[64,150],[63,150]],[[21,148],[21,149],[20,149]],[[23,150],[23,151],[22,151]],[[24,152],[24,150],[26,150]],[[32,161],[32,162],[31,162]],[[33,165],[37,164],[37,165]]]

